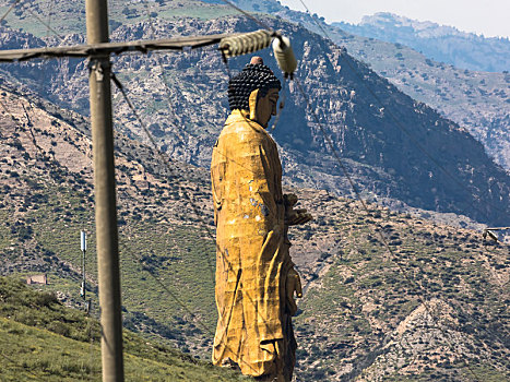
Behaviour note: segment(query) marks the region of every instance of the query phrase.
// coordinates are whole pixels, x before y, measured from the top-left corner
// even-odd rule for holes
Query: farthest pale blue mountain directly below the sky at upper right
[[[345,32],[406,45],[427,58],[459,69],[502,72],[510,69],[510,40],[461,32],[452,26],[420,22],[392,13],[364,16],[359,24],[332,23]]]

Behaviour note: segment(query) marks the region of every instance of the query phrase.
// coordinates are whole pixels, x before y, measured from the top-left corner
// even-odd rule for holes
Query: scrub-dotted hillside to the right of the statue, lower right
[[[311,204],[335,246],[311,231],[322,253],[299,305],[298,381],[510,378],[508,246],[325,193]]]

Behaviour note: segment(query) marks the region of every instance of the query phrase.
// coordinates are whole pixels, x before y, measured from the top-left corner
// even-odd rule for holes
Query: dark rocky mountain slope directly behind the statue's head
[[[414,102],[345,50],[307,29],[281,20],[265,22],[293,37],[300,57],[299,81],[366,198],[403,208],[452,212],[483,223],[506,224],[502,216],[509,208],[510,177],[491,163],[484,147],[464,129]],[[118,26],[112,39],[256,28],[244,17],[175,22],[158,19]],[[79,35],[68,38],[83,41]],[[13,31],[5,33],[4,39],[44,45],[35,36]],[[266,62],[274,62],[269,52],[262,56]],[[239,70],[246,60],[230,60],[230,69]],[[88,96],[85,62],[39,64],[5,65],[4,76],[29,84],[58,105],[84,114]],[[211,147],[227,109],[226,73],[217,51],[211,48],[183,55],[127,55],[115,59],[115,70],[128,85],[130,97],[161,147],[175,159],[209,166]],[[36,82],[44,73],[48,73],[45,83]],[[300,187],[348,195],[351,189],[344,174],[307,112],[305,99],[294,84],[287,88],[287,105],[274,131],[283,150],[286,176]],[[383,100],[382,105],[372,93]],[[115,99],[119,129],[127,136],[144,140],[120,95]]]

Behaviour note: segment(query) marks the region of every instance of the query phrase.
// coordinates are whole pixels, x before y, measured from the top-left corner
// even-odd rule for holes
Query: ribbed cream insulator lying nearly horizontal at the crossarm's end
[[[260,29],[244,35],[223,38],[220,41],[220,50],[225,58],[242,56],[268,48],[271,44],[272,33]]]

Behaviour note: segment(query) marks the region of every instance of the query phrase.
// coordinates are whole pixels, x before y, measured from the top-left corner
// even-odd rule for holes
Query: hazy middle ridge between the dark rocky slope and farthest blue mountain
[[[309,14],[293,11],[274,0],[234,2],[249,11],[254,11],[254,7],[258,5],[259,12],[281,16],[320,35],[323,34],[322,29],[328,31],[329,37],[335,44],[345,47],[349,55],[370,65],[400,91],[466,128],[484,144],[497,164],[510,170],[510,138],[507,133],[510,129],[508,73],[469,71],[437,62],[405,45],[363,37],[331,26],[317,14],[313,15],[313,21]],[[322,28],[319,28],[316,22]],[[490,44],[490,39],[483,39],[482,46]],[[501,44],[508,46],[505,41]],[[473,50],[477,51],[477,48]],[[505,51],[508,52],[508,48]]]

